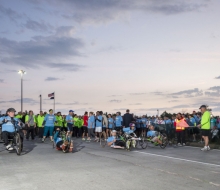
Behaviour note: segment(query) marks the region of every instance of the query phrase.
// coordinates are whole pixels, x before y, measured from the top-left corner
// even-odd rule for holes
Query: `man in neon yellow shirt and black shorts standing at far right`
[[[210,125],[211,115],[205,105],[202,105],[199,109],[202,112],[202,119],[201,119],[201,124],[199,124],[198,127],[201,128],[201,135],[205,141],[205,146],[201,150],[207,151],[207,150],[210,150],[209,136],[210,136],[210,129],[211,129],[211,125]]]

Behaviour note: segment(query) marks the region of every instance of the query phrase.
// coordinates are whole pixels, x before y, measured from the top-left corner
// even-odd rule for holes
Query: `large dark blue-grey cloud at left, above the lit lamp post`
[[[62,29],[65,30],[65,29]],[[50,36],[35,36],[30,41],[14,41],[0,38],[0,65],[18,65],[23,68],[48,67],[65,71],[78,71],[83,66],[67,63],[74,57],[82,56],[79,52],[84,42],[68,36],[70,28]],[[59,28],[57,29],[59,31]]]

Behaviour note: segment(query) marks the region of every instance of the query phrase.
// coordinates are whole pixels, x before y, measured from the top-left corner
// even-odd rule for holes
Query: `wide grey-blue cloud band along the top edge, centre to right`
[[[205,0],[185,1],[182,0],[26,0],[28,3],[41,6],[47,2],[51,7],[58,10],[63,18],[78,23],[105,23],[118,18],[128,17],[131,12],[142,11],[143,13],[155,13],[163,15],[181,14],[199,11],[207,6]],[[41,10],[40,10],[41,11]],[[49,13],[49,12],[48,12]]]

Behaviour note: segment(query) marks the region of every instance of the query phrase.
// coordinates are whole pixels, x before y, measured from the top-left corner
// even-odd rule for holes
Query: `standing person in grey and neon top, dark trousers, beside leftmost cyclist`
[[[34,129],[36,128],[36,119],[32,110],[30,110],[29,114],[26,115],[25,123],[27,125],[26,139],[29,140],[29,136],[31,134],[31,139],[34,140]]]

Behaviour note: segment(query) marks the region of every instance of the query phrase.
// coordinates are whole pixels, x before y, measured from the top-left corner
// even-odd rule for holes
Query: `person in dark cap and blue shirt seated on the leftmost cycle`
[[[11,146],[9,142],[9,138],[12,138],[15,133],[15,127],[17,127],[21,142],[23,145],[24,134],[21,131],[21,123],[18,118],[15,118],[16,110],[14,108],[9,108],[6,112],[7,116],[0,117],[0,124],[2,124],[2,137],[4,140],[4,145],[6,146],[6,150],[13,150],[14,148]]]

